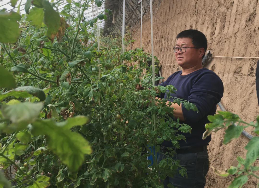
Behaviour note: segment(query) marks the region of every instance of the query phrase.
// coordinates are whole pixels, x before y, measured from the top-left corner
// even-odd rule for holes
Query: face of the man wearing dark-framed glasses
[[[191,38],[179,38],[176,42],[175,47],[195,47],[192,44]],[[203,49],[203,48],[202,48]],[[203,49],[204,53],[204,49]],[[182,68],[189,68],[197,63],[200,63],[200,58],[203,54],[200,52],[200,48],[186,48],[185,52],[181,52],[180,49],[178,52],[175,52],[175,59],[179,66]]]

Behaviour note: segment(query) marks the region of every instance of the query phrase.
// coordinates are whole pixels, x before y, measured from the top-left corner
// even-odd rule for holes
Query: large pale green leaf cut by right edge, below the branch
[[[245,168],[248,169],[251,164],[259,157],[259,137],[253,137],[248,144],[244,147],[247,149]]]

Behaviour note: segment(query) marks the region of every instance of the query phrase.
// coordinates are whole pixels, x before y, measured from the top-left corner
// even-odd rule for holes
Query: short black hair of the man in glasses
[[[179,39],[179,38],[191,38],[192,44],[195,47],[204,48],[205,52],[202,58],[205,56],[208,43],[205,35],[202,32],[195,29],[184,30],[176,36],[176,39]]]

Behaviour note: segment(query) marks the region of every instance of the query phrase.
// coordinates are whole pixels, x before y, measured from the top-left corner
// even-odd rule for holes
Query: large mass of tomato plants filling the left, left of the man
[[[56,9],[62,1],[27,2],[26,15],[5,10],[0,15],[0,26],[12,28],[0,33],[0,166],[17,169],[0,183],[163,187],[161,179],[177,169],[186,175],[170,157],[148,168],[148,146],[158,152],[163,140],[171,140],[179,147],[184,137],[178,131],[191,128],[173,119],[167,100],[158,105],[152,100],[176,89],[152,85],[150,54],[138,48],[119,53],[116,34],[100,37],[98,50],[95,23],[111,11],[90,20],[83,14],[103,1],[71,2],[62,10]],[[155,64],[158,72],[156,57]],[[140,83],[144,89],[136,91]],[[196,110],[186,101],[174,102]]]

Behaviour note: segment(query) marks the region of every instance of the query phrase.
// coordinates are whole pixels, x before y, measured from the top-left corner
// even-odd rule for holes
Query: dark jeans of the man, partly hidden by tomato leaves
[[[158,162],[166,158],[163,155],[163,150],[160,152],[157,158]],[[209,165],[207,149],[199,153],[177,154],[173,159],[180,160],[181,166],[187,169],[188,178],[181,176],[179,173],[174,177],[166,177],[163,181],[165,188],[170,183],[178,188],[204,188]]]

